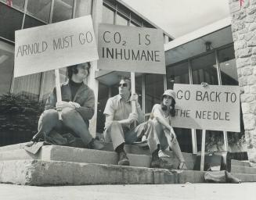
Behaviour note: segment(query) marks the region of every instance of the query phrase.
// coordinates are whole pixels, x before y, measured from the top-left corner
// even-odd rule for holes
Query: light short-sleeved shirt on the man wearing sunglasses
[[[121,98],[121,95],[115,95],[107,100],[103,113],[114,116],[113,120],[125,120],[128,119],[131,112],[131,101],[126,102],[124,98]],[[127,125],[127,127],[129,126]]]

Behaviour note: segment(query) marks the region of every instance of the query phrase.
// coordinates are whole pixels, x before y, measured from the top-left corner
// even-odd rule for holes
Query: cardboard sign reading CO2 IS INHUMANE
[[[161,30],[100,24],[98,41],[99,69],[166,73]]]

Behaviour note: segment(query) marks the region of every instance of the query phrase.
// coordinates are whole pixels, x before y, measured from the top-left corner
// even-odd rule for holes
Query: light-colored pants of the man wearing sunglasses
[[[126,127],[122,127],[121,123],[113,121],[106,127],[103,137],[106,142],[112,142],[114,149],[116,149],[119,145],[124,143],[131,145],[133,142],[141,138],[143,134],[146,134],[147,136],[150,152],[156,151],[159,141],[157,135],[154,134],[152,121],[141,123],[131,130]]]

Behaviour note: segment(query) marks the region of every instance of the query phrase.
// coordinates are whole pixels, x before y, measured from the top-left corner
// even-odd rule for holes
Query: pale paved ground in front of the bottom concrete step
[[[0,184],[2,200],[165,200],[255,199],[256,183],[168,184],[168,185],[87,185],[34,187]]]

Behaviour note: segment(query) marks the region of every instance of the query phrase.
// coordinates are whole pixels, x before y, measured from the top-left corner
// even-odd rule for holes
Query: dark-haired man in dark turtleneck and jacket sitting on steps
[[[71,130],[81,137],[86,148],[103,148],[96,143],[88,130],[89,121],[94,114],[94,92],[84,80],[88,77],[90,63],[68,66],[68,81],[61,86],[62,101],[56,101],[56,88],[47,99],[45,111],[38,121],[38,134],[32,141],[48,137],[52,130],[65,133]],[[59,120],[58,112],[62,120]]]

